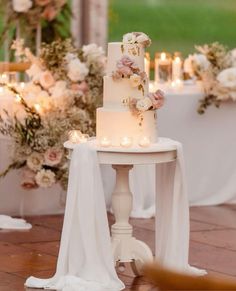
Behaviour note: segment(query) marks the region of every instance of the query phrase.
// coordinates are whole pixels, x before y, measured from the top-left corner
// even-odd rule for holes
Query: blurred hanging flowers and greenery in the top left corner
[[[25,35],[27,39],[32,38],[32,32],[38,24],[42,25],[44,42],[51,42],[57,36],[65,38],[69,35],[65,23],[71,12],[66,0],[0,0],[0,7],[5,17],[1,41],[9,31],[16,35],[17,29],[20,37]]]

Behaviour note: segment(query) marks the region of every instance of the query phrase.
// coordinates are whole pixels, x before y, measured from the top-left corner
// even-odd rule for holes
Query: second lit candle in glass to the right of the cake
[[[155,82],[166,83],[171,81],[171,55],[169,53],[155,54]]]

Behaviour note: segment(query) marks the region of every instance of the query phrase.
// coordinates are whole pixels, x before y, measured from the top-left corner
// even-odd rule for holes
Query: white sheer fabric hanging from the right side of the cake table
[[[156,166],[156,258],[173,270],[204,275],[205,270],[188,264],[189,203],[183,149],[179,142],[169,142],[176,145],[176,161]]]

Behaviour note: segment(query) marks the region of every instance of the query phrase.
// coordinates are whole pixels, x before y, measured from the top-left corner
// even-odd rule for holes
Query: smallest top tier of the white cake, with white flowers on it
[[[116,70],[117,62],[124,56],[133,60],[141,71],[144,71],[144,49],[149,46],[151,40],[141,32],[127,33],[122,42],[108,44],[107,75]]]

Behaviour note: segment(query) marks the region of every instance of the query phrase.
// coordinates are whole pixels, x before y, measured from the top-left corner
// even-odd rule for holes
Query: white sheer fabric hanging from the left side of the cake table
[[[30,277],[25,285],[63,291],[118,291],[97,153],[87,144],[72,154],[57,270],[50,279]]]

